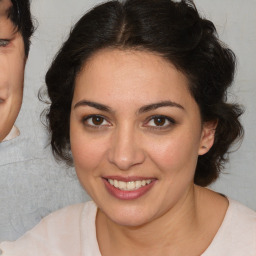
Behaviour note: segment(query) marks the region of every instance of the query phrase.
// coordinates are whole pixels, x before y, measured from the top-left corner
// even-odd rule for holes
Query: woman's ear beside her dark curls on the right
[[[215,131],[218,125],[218,120],[208,121],[203,123],[201,141],[198,149],[198,155],[206,154],[214,143]]]

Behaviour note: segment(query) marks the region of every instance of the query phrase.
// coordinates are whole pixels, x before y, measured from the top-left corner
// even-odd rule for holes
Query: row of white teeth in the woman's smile
[[[152,180],[136,180],[136,181],[118,181],[118,180],[112,180],[108,179],[108,182],[114,186],[115,188],[118,188],[120,190],[124,191],[133,191],[136,189],[139,189],[141,187],[144,187],[152,182]]]

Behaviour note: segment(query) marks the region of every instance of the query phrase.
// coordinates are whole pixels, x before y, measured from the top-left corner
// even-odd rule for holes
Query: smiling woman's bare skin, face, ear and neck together
[[[202,123],[186,77],[163,58],[105,49],[87,61],[75,83],[70,142],[78,178],[99,208],[102,255],[206,250],[228,207],[193,183],[215,127]]]

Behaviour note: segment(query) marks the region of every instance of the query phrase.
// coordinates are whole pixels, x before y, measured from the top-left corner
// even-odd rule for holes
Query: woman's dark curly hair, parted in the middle
[[[194,183],[207,186],[217,179],[229,148],[243,136],[242,108],[227,102],[236,58],[192,0],[110,1],[77,22],[46,74],[51,100],[46,118],[55,157],[72,164],[69,118],[75,79],[84,63],[104,48],[159,54],[188,78],[202,122],[218,122],[213,147],[198,157]]]

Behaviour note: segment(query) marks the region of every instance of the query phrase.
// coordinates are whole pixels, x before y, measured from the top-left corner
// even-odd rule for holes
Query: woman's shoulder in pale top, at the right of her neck
[[[256,212],[229,199],[221,227],[203,256],[256,255]]]

